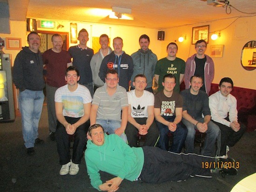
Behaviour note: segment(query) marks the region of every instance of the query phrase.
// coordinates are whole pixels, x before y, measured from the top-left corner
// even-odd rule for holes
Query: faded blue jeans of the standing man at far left
[[[22,134],[26,148],[34,147],[44,103],[43,91],[24,90],[19,94]]]

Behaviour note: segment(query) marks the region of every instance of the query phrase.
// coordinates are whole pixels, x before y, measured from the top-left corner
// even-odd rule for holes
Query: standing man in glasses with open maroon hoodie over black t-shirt
[[[204,54],[206,51],[207,43],[205,40],[198,40],[195,43],[196,53],[188,58],[186,61],[184,82],[186,89],[189,89],[190,78],[193,75],[201,76],[204,79],[200,90],[209,95],[211,90],[211,83],[214,78],[214,63],[212,58]]]

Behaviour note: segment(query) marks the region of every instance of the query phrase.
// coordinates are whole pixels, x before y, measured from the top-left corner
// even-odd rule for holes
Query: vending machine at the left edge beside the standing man
[[[0,123],[14,120],[11,55],[0,54]]]

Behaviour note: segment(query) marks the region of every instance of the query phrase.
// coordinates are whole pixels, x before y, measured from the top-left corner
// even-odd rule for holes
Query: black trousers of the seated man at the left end
[[[80,118],[65,117],[68,123],[71,125],[76,123]],[[88,131],[87,122],[77,127],[74,133],[74,144],[73,144],[73,155],[72,162],[75,164],[81,163],[81,158],[83,156],[83,151],[86,145],[87,137],[86,133]],[[57,121],[57,128],[55,132],[55,139],[57,142],[57,151],[60,156],[60,164],[65,165],[70,162],[70,141],[69,135],[66,132],[65,127]]]

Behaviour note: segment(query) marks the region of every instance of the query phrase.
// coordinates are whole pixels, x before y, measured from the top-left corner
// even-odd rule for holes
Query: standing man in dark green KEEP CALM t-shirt
[[[177,58],[178,46],[176,43],[169,43],[167,48],[167,57],[157,61],[155,66],[155,81],[158,84],[157,91],[163,90],[163,85],[159,79],[162,80],[166,74],[173,74],[176,78],[176,85],[174,91],[180,93],[180,84],[183,81],[185,73],[185,61]]]

